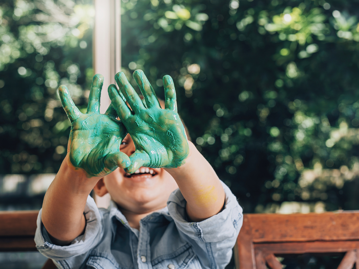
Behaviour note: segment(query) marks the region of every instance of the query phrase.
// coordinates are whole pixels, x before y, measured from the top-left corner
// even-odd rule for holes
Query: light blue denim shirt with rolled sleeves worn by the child
[[[225,206],[215,216],[188,222],[186,200],[177,189],[167,207],[141,219],[140,230],[130,227],[114,202],[108,209],[97,208],[89,196],[85,232],[68,246],[51,243],[40,210],[36,247],[62,269],[224,268],[232,256],[243,215],[236,197],[222,185]]]

